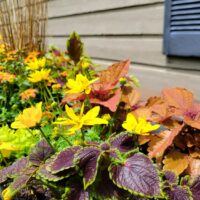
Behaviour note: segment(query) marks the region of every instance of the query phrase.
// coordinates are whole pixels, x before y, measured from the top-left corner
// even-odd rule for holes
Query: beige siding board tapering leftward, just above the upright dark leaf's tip
[[[162,34],[163,5],[50,19],[47,35]]]

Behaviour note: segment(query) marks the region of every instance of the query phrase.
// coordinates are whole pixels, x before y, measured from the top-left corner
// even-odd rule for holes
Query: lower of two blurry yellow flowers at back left
[[[28,77],[28,80],[32,83],[48,80],[50,71],[51,71],[50,69],[49,70],[41,69],[40,71],[36,70],[32,74],[30,74],[30,76]]]

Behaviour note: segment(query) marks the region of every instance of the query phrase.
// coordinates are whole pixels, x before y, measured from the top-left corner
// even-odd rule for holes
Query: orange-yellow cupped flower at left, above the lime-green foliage
[[[31,128],[35,127],[42,118],[42,102],[37,103],[35,107],[31,106],[23,110],[15,121],[11,124],[12,128]]]

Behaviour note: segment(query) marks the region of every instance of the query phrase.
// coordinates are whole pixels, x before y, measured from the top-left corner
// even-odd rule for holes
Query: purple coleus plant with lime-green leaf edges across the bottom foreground
[[[134,135],[122,132],[101,144],[88,142],[51,156],[53,150],[42,140],[28,157],[0,171],[1,183],[14,178],[3,197],[11,199],[37,178],[57,188],[63,199],[164,198],[160,172],[134,141]]]

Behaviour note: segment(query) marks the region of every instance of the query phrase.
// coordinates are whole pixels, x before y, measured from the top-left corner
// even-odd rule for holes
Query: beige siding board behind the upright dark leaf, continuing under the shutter
[[[47,43],[65,49],[66,39],[47,38]],[[167,59],[162,54],[162,37],[83,37],[82,39],[86,52],[93,58],[105,60],[130,58],[133,63],[157,67],[200,69],[199,59]]]

